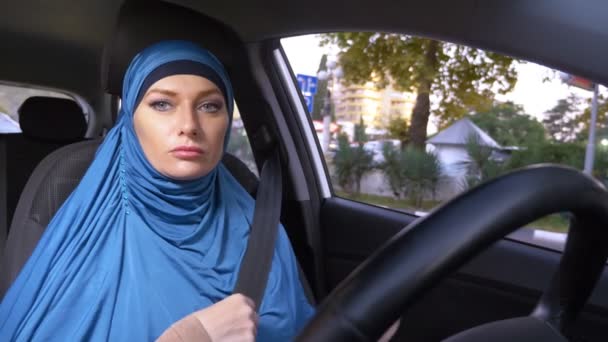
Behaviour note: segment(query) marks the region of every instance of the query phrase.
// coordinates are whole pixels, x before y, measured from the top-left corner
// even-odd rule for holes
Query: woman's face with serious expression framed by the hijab
[[[226,101],[206,78],[168,76],[146,91],[133,124],[146,158],[158,172],[192,180],[208,174],[222,158]]]

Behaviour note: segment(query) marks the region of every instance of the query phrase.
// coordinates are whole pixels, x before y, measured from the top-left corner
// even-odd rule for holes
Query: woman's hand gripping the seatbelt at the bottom
[[[255,341],[258,315],[253,301],[233,294],[210,307],[194,313],[213,342]]]

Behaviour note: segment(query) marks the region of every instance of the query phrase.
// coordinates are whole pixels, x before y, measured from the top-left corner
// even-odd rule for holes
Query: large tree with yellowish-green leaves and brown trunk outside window
[[[340,32],[323,35],[322,44],[341,50],[344,82],[416,92],[409,136],[423,149],[431,114],[431,94],[439,105],[433,111],[442,121],[463,117],[486,107],[494,91],[506,93],[517,80],[513,59],[493,52],[401,34]]]

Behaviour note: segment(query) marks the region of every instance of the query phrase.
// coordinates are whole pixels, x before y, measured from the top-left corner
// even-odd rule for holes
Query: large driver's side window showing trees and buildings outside
[[[597,141],[587,171],[608,179],[608,101],[600,87],[597,123],[591,123],[595,85],[587,80],[400,34],[308,35],[282,45],[299,74],[338,196],[424,215],[526,165],[583,170],[592,126]],[[316,87],[306,77],[316,77]],[[529,226],[564,233],[568,215]]]

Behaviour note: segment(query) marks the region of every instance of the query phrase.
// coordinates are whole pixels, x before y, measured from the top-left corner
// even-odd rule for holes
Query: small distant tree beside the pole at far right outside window
[[[558,100],[555,107],[545,112],[543,125],[554,141],[571,142],[577,139],[577,135],[583,130],[579,124],[580,105],[581,99],[570,94],[567,98]]]

